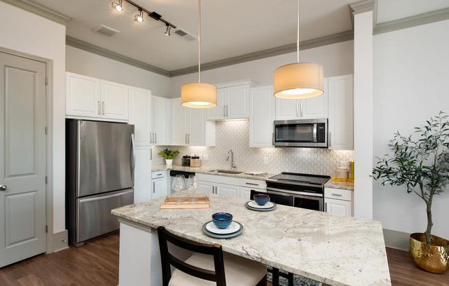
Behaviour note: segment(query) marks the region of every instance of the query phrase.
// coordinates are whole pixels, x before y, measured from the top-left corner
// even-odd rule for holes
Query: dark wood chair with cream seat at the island
[[[189,241],[158,227],[163,286],[267,286],[267,268],[261,263],[223,253],[219,244]],[[169,252],[168,243],[194,252],[182,261]],[[171,273],[170,265],[176,269]]]

